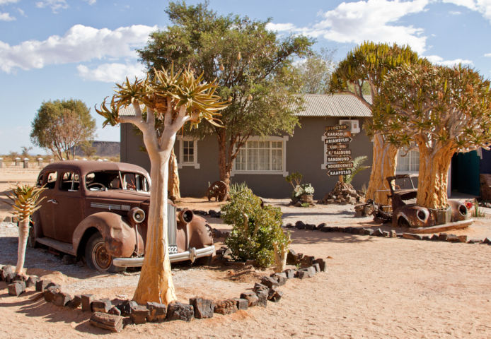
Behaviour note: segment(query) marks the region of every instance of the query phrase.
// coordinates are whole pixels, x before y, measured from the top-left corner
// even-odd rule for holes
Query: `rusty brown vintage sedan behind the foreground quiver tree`
[[[122,162],[63,161],[41,170],[42,206],[33,215],[29,244],[43,244],[96,270],[115,272],[143,264],[149,174]],[[206,220],[168,201],[172,262],[209,261],[214,255]]]

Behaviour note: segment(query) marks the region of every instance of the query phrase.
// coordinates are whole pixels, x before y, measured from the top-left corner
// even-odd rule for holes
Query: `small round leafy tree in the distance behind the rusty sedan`
[[[32,123],[30,139],[51,150],[59,160],[73,159],[74,147],[90,141],[96,131],[96,119],[81,100],[43,102]]]

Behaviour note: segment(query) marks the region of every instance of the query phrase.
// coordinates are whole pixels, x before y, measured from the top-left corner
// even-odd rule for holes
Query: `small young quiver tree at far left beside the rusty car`
[[[16,215],[19,220],[16,265],[16,273],[19,274],[23,273],[24,268],[25,246],[28,242],[30,216],[41,207],[40,203],[44,197],[40,198],[40,194],[44,190],[44,186],[37,187],[17,184],[13,187],[10,194],[7,194],[8,198],[12,201],[8,204],[13,207],[13,214]]]

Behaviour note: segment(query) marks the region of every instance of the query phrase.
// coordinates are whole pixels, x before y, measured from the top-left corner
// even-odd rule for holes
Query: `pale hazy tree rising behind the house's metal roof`
[[[335,69],[334,52],[328,49],[321,49],[320,53],[313,54],[303,63],[296,66],[301,80],[300,93],[328,93],[330,76]]]

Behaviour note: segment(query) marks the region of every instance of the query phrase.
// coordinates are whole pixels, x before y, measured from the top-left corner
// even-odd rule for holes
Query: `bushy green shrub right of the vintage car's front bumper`
[[[233,225],[226,245],[236,260],[255,260],[262,268],[275,260],[274,244],[289,241],[282,230],[282,212],[277,207],[261,207],[261,199],[247,186],[231,189],[230,200],[221,207],[221,218]]]

